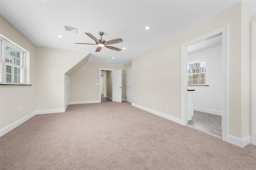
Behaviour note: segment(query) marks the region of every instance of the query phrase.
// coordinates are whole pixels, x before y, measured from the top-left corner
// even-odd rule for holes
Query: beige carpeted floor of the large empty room
[[[1,170],[256,169],[244,148],[131,106],[70,105],[0,137]]]

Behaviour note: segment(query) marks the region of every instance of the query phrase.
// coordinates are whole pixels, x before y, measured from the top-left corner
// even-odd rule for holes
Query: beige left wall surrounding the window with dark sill
[[[0,129],[36,110],[36,46],[0,16],[0,34],[29,52],[26,56],[26,83],[32,86],[0,85]],[[20,112],[20,107],[22,111]]]

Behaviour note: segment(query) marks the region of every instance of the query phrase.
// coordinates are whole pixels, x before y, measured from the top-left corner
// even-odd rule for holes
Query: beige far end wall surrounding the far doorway
[[[70,102],[99,101],[100,68],[122,69],[122,87],[125,87],[125,68],[117,64],[86,63],[70,76]],[[90,96],[88,98],[88,96]],[[122,88],[125,98],[125,88]]]

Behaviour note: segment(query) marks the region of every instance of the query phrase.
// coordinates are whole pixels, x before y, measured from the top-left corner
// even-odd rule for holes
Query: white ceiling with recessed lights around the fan
[[[125,64],[237,2],[239,0],[0,0],[0,14],[37,46],[90,52],[89,62],[110,60]],[[250,3],[255,1],[246,3],[251,7]],[[250,15],[256,14],[256,9],[248,10]],[[76,27],[77,33],[65,31],[63,25]],[[146,26],[150,29],[144,29]],[[111,45],[122,50],[103,47],[96,53],[96,45],[75,44],[95,43],[84,32],[99,39],[99,31],[104,32],[102,39],[106,41],[122,38],[122,43]]]

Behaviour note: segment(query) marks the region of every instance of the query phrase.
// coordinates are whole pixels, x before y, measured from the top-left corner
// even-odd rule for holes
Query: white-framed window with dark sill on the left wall
[[[5,39],[1,41],[0,83],[24,83],[25,53]]]

